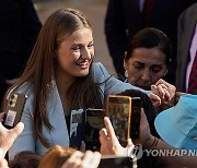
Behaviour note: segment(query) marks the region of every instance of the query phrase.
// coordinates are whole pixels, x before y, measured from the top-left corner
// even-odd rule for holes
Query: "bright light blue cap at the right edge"
[[[197,95],[181,96],[176,106],[157,116],[154,125],[167,144],[197,149]]]

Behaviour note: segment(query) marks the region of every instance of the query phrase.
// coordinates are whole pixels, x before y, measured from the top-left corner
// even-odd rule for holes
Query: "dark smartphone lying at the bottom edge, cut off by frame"
[[[130,157],[103,156],[99,168],[130,168],[132,159]]]

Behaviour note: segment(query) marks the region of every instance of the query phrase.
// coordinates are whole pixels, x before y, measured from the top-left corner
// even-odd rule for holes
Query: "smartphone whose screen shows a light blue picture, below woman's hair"
[[[70,147],[80,149],[84,140],[85,111],[83,109],[70,112]]]

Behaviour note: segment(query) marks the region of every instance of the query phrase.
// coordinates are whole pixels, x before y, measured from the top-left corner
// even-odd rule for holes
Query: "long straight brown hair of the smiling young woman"
[[[48,95],[53,89],[55,55],[59,45],[73,32],[82,27],[92,29],[89,21],[79,11],[67,8],[54,12],[43,25],[26,69],[19,83],[13,86],[15,91],[26,81],[33,83],[34,130],[40,143],[46,147],[49,147],[49,144],[43,137],[40,128],[44,124],[48,130],[53,129],[46,115],[46,106]],[[89,106],[92,108],[103,107],[102,94],[97,85],[93,82],[92,73],[79,77],[67,93],[70,109],[88,108]]]

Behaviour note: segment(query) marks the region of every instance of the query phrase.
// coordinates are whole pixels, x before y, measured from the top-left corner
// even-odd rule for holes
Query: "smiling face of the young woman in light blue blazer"
[[[94,57],[91,28],[80,28],[63,40],[57,53],[57,73],[76,79],[89,74]]]

